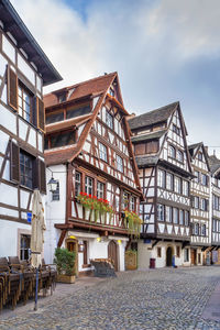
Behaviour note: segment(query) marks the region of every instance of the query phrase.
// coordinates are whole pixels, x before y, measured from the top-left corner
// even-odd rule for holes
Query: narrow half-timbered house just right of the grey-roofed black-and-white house
[[[209,221],[210,168],[204,143],[188,146],[195,178],[190,185],[190,264],[206,264],[207,250],[211,244]]]

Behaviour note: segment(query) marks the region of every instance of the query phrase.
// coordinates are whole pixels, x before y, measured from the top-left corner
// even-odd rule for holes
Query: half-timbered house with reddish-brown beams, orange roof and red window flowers
[[[141,194],[128,116],[118,74],[76,84],[44,97],[47,175],[58,182],[47,199],[45,257],[56,246],[77,253],[76,271],[90,271],[90,260],[110,257],[124,270],[128,228],[123,210],[139,210]],[[53,174],[50,174],[53,173]],[[108,200],[111,212],[79,200]],[[86,195],[87,194],[87,195]]]

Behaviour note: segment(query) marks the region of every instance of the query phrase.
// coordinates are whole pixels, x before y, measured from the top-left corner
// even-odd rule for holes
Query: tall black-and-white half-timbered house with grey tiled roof
[[[188,264],[189,249],[184,248],[190,242],[193,172],[179,102],[130,118],[129,125],[145,197],[140,267],[148,267],[150,258],[156,267]]]

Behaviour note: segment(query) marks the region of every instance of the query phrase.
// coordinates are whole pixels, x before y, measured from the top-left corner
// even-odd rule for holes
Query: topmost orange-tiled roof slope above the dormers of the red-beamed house
[[[63,89],[55,90],[51,94],[44,96],[44,105],[45,108],[53,107],[57,105],[57,95],[62,92],[67,92],[66,101],[72,101],[75,99],[79,99],[89,95],[98,95],[106,91],[113,79],[117,77],[117,73],[111,73],[109,75],[99,76],[94,79],[82,81],[79,84],[75,84],[69,87],[65,87]],[[68,97],[69,92],[69,97]]]

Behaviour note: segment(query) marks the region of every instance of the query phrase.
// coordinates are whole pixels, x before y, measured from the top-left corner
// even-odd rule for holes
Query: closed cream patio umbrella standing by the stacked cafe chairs
[[[41,194],[34,190],[32,201],[32,233],[31,233],[31,251],[32,251],[32,266],[38,267],[41,265],[44,230],[46,229],[44,222],[44,208],[42,204]]]

